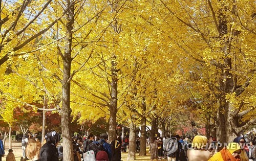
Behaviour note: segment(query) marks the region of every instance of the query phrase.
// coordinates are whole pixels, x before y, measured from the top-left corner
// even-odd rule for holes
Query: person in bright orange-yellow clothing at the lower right
[[[229,143],[220,152],[214,154],[208,161],[240,161],[241,147],[238,143]]]

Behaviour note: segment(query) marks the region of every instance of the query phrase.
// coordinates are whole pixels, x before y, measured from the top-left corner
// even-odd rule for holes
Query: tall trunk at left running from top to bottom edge
[[[70,1],[67,0],[67,6],[70,6]],[[71,141],[71,108],[70,108],[70,81],[71,77],[71,52],[72,52],[72,30],[74,25],[74,4],[67,12],[67,38],[65,45],[65,53],[63,59],[63,79],[62,79],[62,108],[60,110],[61,116],[61,132],[63,139],[63,160],[73,161],[73,145]]]

